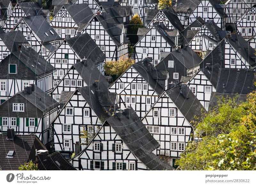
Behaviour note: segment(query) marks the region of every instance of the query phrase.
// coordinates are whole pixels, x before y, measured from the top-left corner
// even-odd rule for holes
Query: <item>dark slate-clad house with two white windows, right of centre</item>
[[[168,84],[180,82],[181,76],[187,75],[187,70],[198,66],[202,59],[190,47],[170,52],[159,64],[157,70],[168,70]]]

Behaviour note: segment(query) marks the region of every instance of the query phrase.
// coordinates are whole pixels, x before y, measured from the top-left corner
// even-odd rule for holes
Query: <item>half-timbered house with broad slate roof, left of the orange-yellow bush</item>
[[[103,73],[104,53],[87,33],[75,37],[66,38],[46,59],[57,71],[53,74],[56,84],[67,73],[68,69],[77,61],[90,60],[96,68]],[[54,87],[55,87],[54,86]]]

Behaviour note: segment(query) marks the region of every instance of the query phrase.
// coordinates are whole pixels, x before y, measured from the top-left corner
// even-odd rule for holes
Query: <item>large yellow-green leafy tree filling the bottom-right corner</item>
[[[176,161],[181,170],[254,170],[256,168],[256,91],[245,103],[220,99],[196,124],[202,140],[188,143]]]

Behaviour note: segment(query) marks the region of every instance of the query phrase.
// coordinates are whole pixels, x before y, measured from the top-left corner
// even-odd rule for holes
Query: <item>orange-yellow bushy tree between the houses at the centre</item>
[[[104,65],[105,72],[108,75],[120,76],[127,68],[129,68],[135,61],[131,58],[125,58],[121,56],[117,61],[107,61]]]

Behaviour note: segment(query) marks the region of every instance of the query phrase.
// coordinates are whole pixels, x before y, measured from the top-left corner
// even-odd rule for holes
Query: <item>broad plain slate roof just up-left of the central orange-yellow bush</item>
[[[68,42],[69,46],[81,59],[91,59],[94,63],[100,63],[105,60],[105,54],[88,33],[66,38],[65,41]]]

